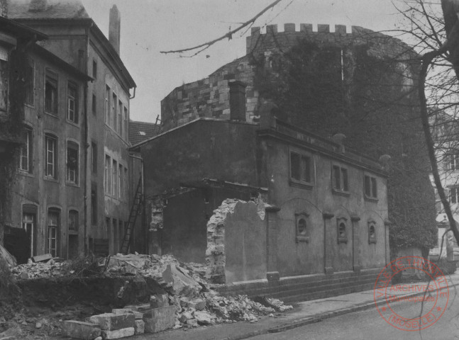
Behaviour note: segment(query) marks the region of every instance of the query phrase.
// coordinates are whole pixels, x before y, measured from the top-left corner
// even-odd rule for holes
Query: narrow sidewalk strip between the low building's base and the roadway
[[[450,288],[450,295],[454,294],[451,288],[459,285],[459,273],[455,273],[448,278],[448,287]],[[403,284],[407,285],[421,285],[423,282]],[[402,286],[402,285],[397,285]],[[396,286],[396,287],[397,287]],[[454,290],[455,288],[453,288]],[[458,288],[459,289],[459,288]],[[404,291],[397,290],[397,295],[400,296],[414,296],[422,295],[424,292],[404,293]],[[382,299],[378,299],[382,300]],[[365,290],[359,293],[351,293],[346,295],[338,295],[334,297],[327,297],[325,299],[311,300],[305,302],[298,302],[294,305],[291,312],[280,314],[277,317],[263,317],[260,321],[253,324],[249,322],[237,322],[234,324],[218,324],[211,327],[198,327],[183,331],[181,329],[162,331],[157,334],[143,334],[133,336],[129,339],[161,339],[161,340],[239,340],[247,339],[250,336],[275,333],[284,331],[295,327],[301,327],[305,324],[319,322],[321,319],[334,317],[341,314],[356,312],[358,310],[366,310],[375,308],[375,300],[373,297],[373,290]]]

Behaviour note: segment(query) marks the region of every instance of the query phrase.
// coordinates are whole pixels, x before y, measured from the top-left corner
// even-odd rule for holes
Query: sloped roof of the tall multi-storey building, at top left
[[[10,19],[89,19],[79,0],[8,0]]]

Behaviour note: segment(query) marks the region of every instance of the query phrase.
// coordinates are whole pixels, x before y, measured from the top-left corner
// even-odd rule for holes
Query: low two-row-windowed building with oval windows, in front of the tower
[[[144,160],[150,251],[206,263],[217,283],[240,288],[237,278],[267,280],[269,294],[281,290],[279,281],[292,288],[294,280],[326,280],[344,288],[336,282],[343,275],[352,282],[346,289],[374,285],[389,263],[387,164],[345,150],[343,135],[331,141],[289,125],[272,104],[259,114],[260,123],[198,118],[132,147]],[[214,260],[222,247],[213,244],[209,226],[226,198],[265,204],[265,237],[229,246],[225,261],[232,267],[222,279]],[[244,219],[236,226],[253,227]],[[236,275],[247,263],[229,249],[243,244],[264,255],[260,268]],[[311,293],[304,289],[300,295]]]

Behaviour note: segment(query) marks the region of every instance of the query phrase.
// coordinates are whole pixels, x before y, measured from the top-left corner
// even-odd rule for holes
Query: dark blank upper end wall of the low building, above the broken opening
[[[252,123],[197,120],[140,146],[145,195],[204,178],[265,186]]]

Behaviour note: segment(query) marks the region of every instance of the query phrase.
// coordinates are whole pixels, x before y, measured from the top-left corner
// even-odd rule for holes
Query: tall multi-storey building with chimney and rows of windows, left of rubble
[[[9,18],[48,35],[31,58],[27,141],[12,226],[31,254],[116,254],[128,221],[128,122],[136,88],[119,56],[120,14],[109,39],[79,1],[11,1]]]

